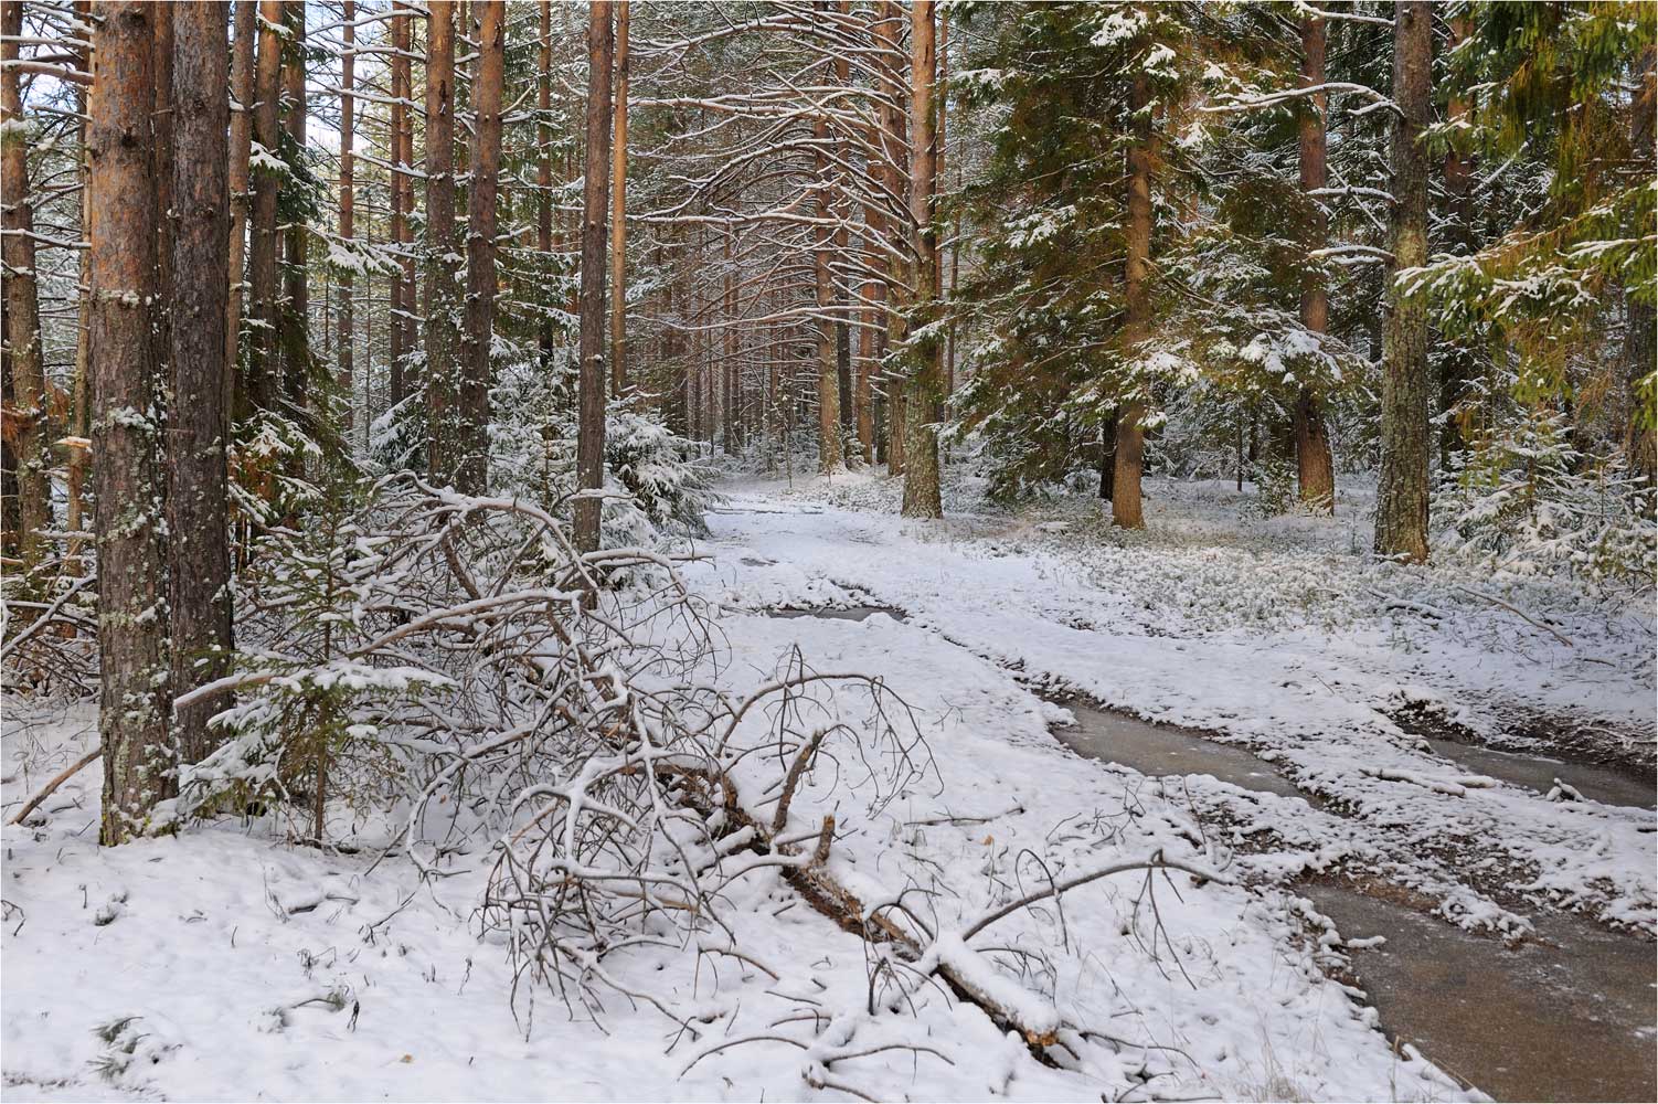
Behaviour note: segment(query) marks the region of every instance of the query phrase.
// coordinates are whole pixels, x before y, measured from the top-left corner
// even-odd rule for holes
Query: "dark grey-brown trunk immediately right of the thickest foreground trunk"
[[[347,0],[350,3],[350,0]],[[172,234],[174,272],[224,272],[230,264],[230,104],[225,86],[225,7],[181,3],[174,8],[172,53]],[[182,693],[225,671],[230,651],[230,547],[225,497],[224,318],[230,287],[189,280],[171,303],[167,552],[172,615],[172,688]],[[227,696],[177,711],[174,738],[186,763],[214,746],[207,719]]]

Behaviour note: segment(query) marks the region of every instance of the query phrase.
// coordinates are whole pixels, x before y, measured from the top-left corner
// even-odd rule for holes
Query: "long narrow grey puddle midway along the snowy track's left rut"
[[[1303,796],[1270,763],[1242,748],[1172,724],[1152,724],[1122,713],[1108,713],[1079,701],[1059,703],[1076,716],[1076,724],[1053,729],[1071,751],[1134,767],[1141,774],[1210,774],[1244,789],[1283,797]]]

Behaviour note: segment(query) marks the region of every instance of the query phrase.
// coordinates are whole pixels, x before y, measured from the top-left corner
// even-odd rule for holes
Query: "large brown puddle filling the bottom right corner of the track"
[[[1295,892],[1341,935],[1389,1036],[1499,1101],[1658,1099],[1653,943],[1570,915],[1532,917],[1540,943],[1507,948],[1341,884]]]

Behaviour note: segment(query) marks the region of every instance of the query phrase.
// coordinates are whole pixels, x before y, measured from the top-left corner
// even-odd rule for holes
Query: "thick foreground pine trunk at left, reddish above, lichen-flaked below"
[[[166,789],[167,622],[161,433],[151,313],[156,283],[153,35],[156,7],[99,0],[88,104],[93,486],[103,844],[144,829]]]

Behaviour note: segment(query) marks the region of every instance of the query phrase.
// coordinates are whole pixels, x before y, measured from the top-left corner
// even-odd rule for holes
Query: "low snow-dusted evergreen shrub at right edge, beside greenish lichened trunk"
[[[1452,459],[1433,501],[1441,559],[1522,577],[1650,590],[1653,489],[1620,454],[1583,456],[1562,414],[1515,418]]]

